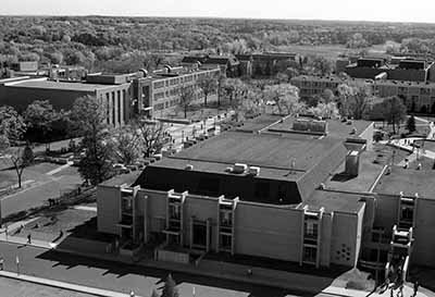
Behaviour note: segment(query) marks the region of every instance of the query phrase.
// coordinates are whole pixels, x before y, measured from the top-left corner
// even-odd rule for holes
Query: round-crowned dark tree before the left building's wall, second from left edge
[[[58,113],[48,100],[36,100],[24,112],[29,139],[42,141],[50,147],[52,124]]]

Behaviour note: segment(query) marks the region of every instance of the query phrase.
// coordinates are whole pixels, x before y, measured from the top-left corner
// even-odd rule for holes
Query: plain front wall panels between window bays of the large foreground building
[[[139,189],[136,195],[138,224],[146,237],[165,230],[166,191]],[[121,188],[99,186],[98,231],[121,235]],[[190,242],[190,218],[211,220],[211,250],[216,247],[219,199],[187,195],[184,212],[184,243]],[[324,213],[319,232],[320,264],[353,267],[359,256],[364,209],[358,214]],[[235,213],[235,253],[299,262],[302,247],[303,209],[238,201]],[[148,239],[146,239],[148,240]]]

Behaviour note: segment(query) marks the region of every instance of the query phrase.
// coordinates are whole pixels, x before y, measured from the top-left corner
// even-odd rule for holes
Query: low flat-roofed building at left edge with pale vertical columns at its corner
[[[110,75],[111,77],[116,75]],[[57,110],[70,110],[80,97],[91,96],[108,109],[108,124],[122,126],[132,117],[130,83],[105,76],[88,76],[88,82],[54,82],[48,78],[10,78],[0,81],[0,104],[23,112],[35,100],[49,100]],[[90,83],[92,82],[92,83]]]

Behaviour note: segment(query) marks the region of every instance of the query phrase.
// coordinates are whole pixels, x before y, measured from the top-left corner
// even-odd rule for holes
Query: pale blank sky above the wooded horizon
[[[435,0],[0,0],[0,14],[435,23]]]

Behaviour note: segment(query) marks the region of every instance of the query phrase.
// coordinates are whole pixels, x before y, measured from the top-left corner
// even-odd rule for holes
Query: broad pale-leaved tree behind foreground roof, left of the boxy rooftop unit
[[[299,89],[290,84],[266,86],[264,98],[274,102],[279,114],[295,114],[303,107],[299,102]]]

